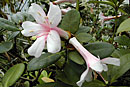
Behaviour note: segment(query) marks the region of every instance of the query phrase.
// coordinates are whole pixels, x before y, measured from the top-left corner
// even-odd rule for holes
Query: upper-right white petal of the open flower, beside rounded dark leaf
[[[47,14],[51,27],[56,27],[61,21],[61,10],[59,6],[50,3],[50,9]]]

